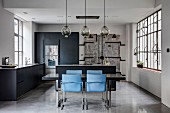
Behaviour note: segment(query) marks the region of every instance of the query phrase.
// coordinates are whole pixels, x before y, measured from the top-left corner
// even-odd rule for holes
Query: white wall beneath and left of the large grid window
[[[161,98],[161,73],[153,70],[137,68],[136,56],[136,24],[128,24],[127,32],[127,64],[128,80]]]

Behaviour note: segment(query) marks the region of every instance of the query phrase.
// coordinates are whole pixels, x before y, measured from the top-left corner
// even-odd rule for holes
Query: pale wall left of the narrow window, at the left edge
[[[5,56],[14,63],[14,15],[2,8],[0,0],[0,64]]]

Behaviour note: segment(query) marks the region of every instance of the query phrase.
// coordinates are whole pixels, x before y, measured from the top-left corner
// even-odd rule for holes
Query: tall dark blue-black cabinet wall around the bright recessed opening
[[[79,33],[72,32],[68,38],[61,32],[35,33],[35,62],[44,63],[45,45],[58,45],[59,64],[79,64]]]

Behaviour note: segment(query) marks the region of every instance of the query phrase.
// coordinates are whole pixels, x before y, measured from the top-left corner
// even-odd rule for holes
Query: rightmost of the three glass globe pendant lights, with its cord
[[[104,38],[106,38],[110,33],[110,30],[108,27],[105,25],[105,0],[104,0],[104,26],[100,30],[100,35]]]

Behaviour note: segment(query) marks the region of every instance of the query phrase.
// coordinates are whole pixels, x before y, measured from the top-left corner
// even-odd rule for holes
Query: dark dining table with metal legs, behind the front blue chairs
[[[85,83],[86,81],[86,74],[82,74],[82,81]],[[125,80],[126,77],[122,75],[115,75],[115,74],[106,74],[106,84],[107,84],[107,96],[106,100],[108,100],[108,107],[111,107],[111,91],[116,91],[116,89],[112,88],[112,85],[116,85],[116,82],[113,81],[120,81]],[[55,90],[56,90],[56,106],[60,107],[61,105],[61,98],[60,98],[60,91],[58,82],[61,81],[58,74],[47,74],[42,77],[43,81],[56,81],[55,82]],[[115,84],[114,84],[115,83]]]

